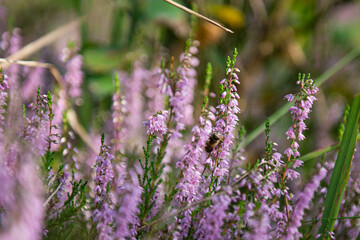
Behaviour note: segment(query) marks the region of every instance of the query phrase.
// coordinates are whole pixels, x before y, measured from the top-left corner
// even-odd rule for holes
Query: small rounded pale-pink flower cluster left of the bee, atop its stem
[[[147,127],[146,134],[156,136],[155,142],[157,144],[160,143],[162,136],[168,130],[166,126],[167,113],[166,110],[159,111],[144,122],[144,125]]]

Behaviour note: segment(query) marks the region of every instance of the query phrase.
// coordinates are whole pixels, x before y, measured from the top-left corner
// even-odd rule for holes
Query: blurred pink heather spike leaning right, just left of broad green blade
[[[320,182],[326,177],[327,170],[320,168],[319,173],[316,174],[312,180],[306,184],[304,191],[299,192],[295,197],[294,211],[291,214],[285,233],[285,239],[299,239],[302,234],[299,232],[301,221],[304,218],[305,209],[309,209],[311,200],[314,197],[315,191],[319,188]]]

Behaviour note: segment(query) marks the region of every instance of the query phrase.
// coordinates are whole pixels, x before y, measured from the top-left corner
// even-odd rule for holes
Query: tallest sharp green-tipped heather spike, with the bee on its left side
[[[236,57],[236,54],[234,56]],[[216,107],[217,121],[213,128],[213,132],[223,138],[222,143],[219,145],[221,147],[220,152],[213,151],[212,153],[213,157],[219,162],[218,166],[216,166],[216,161],[213,163],[213,167],[216,167],[214,176],[220,177],[219,181],[228,172],[229,156],[234,139],[233,132],[239,120],[237,114],[240,112],[240,109],[237,99],[240,97],[237,93],[236,84],[240,84],[237,75],[240,70],[231,66],[235,64],[235,57],[233,61],[230,61],[230,58],[228,59],[226,78],[220,82],[223,92],[221,93],[220,104]]]

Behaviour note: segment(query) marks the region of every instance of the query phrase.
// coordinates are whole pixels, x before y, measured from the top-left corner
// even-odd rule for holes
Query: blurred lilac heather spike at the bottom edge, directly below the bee
[[[213,205],[204,210],[204,217],[199,220],[199,226],[194,235],[195,239],[221,239],[222,226],[230,202],[231,198],[228,195],[213,198]]]

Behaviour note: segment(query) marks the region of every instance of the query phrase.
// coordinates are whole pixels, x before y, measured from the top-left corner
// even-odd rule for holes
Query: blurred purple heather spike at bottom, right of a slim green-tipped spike
[[[130,181],[121,185],[117,192],[120,194],[119,210],[115,217],[116,239],[134,237],[139,226],[138,205],[141,201],[142,188],[138,184],[135,172],[130,172]]]

